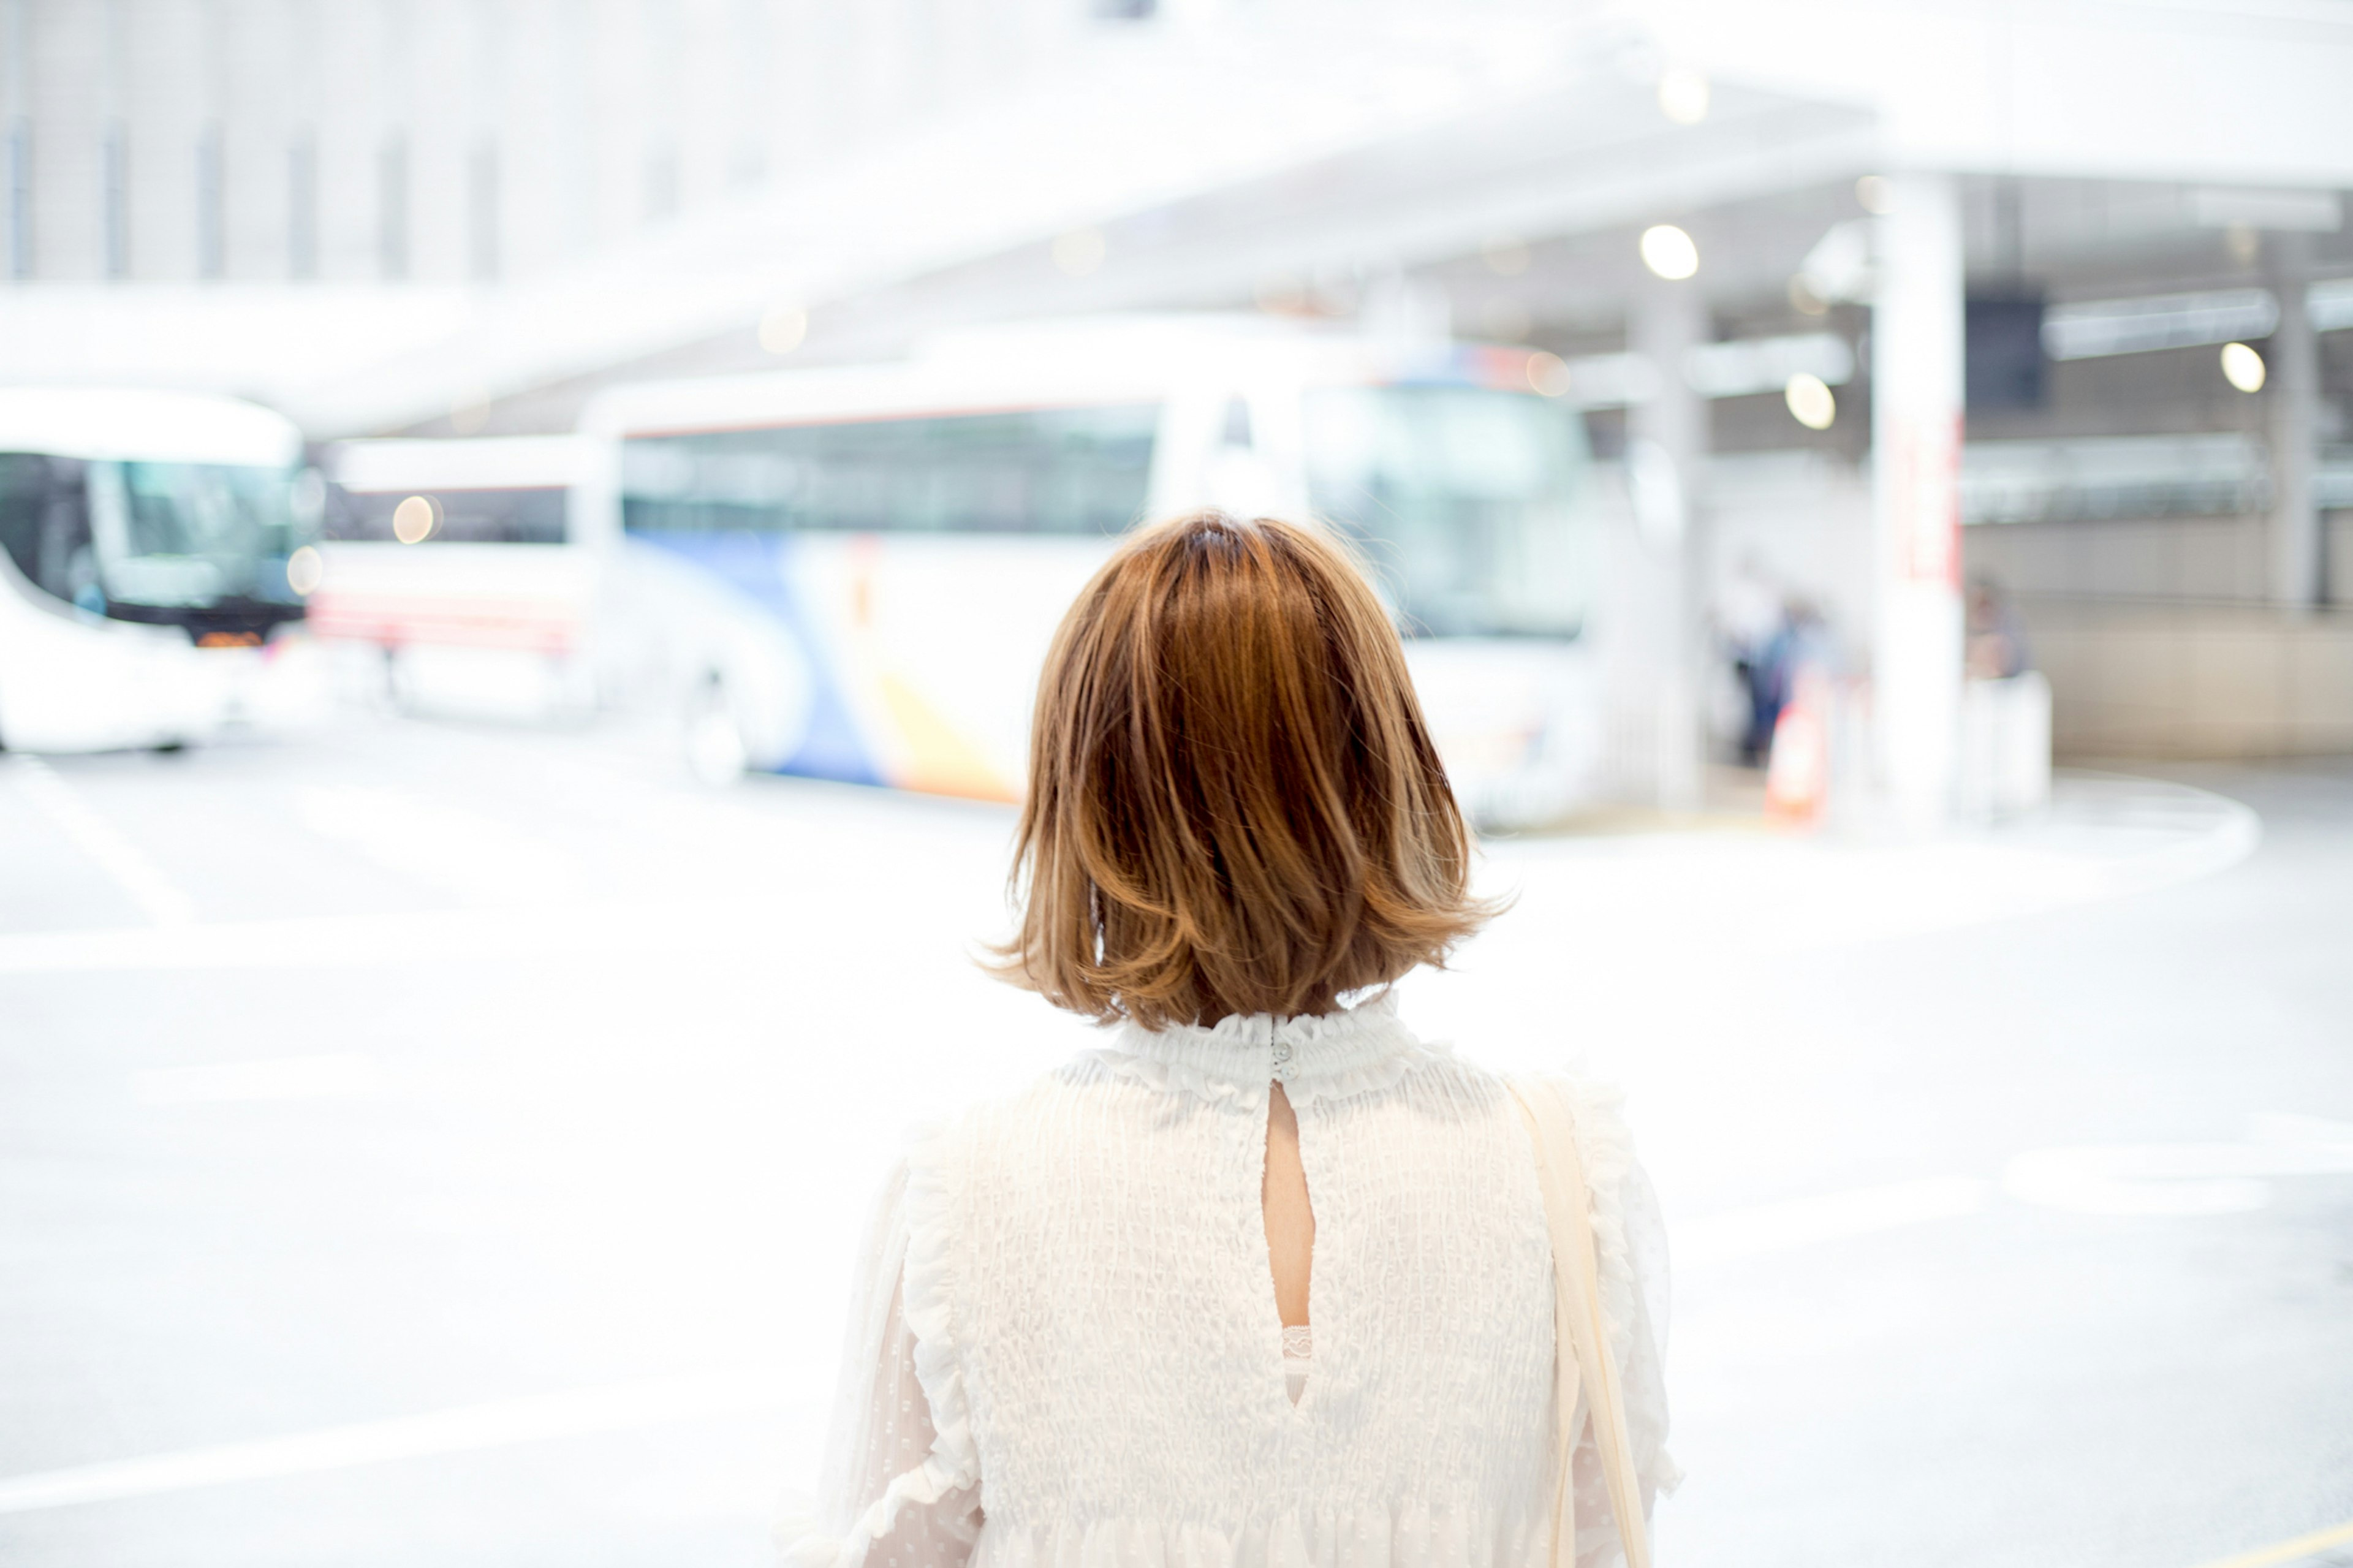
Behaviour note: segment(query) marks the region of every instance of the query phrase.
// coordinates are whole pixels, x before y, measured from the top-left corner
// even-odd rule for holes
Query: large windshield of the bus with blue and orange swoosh
[[[1329,386],[1304,419],[1308,504],[1365,549],[1407,633],[1579,631],[1577,410],[1480,386]]]

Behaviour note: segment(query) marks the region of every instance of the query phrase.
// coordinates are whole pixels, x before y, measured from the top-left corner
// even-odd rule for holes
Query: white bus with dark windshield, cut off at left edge
[[[111,751],[266,716],[322,483],[233,398],[0,388],[0,746]]]

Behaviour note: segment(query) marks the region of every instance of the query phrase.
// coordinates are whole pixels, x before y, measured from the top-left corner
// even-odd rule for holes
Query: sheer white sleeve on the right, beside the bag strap
[[[1577,1132],[1593,1194],[1593,1243],[1600,1253],[1602,1309],[1609,1314],[1609,1354],[1626,1396],[1626,1441],[1647,1519],[1659,1493],[1675,1490],[1682,1471],[1666,1453],[1666,1222],[1649,1175],[1633,1158],[1633,1137],[1614,1092],[1577,1092]],[[1577,1519],[1577,1568],[1624,1561],[1609,1483],[1602,1476],[1593,1422],[1579,1415],[1569,1483]]]

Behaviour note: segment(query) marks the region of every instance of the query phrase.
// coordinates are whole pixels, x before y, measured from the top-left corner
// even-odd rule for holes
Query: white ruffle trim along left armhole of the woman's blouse
[[[882,1495],[840,1537],[816,1533],[814,1519],[779,1523],[779,1559],[786,1568],[864,1568],[866,1554],[896,1528],[899,1514],[908,1507],[929,1507],[981,1481],[965,1363],[955,1347],[960,1187],[955,1130],[925,1130],[906,1154],[906,1274],[899,1278],[899,1314],[915,1340],[915,1382],[932,1406],[932,1453],[915,1469],[892,1476]]]

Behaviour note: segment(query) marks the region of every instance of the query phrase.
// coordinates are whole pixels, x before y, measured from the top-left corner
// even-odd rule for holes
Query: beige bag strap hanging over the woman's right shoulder
[[[1577,1111],[1560,1083],[1544,1076],[1506,1081],[1520,1102],[1527,1137],[1537,1147],[1537,1187],[1544,1191],[1544,1224],[1553,1236],[1553,1340],[1558,1344],[1560,1483],[1553,1493],[1553,1568],[1577,1563],[1577,1521],[1569,1504],[1569,1460],[1577,1453],[1577,1394],[1586,1391],[1593,1441],[1609,1486],[1626,1568],[1649,1568],[1649,1535],[1642,1521],[1642,1488],[1633,1474],[1626,1439],[1626,1398],[1617,1361],[1609,1356],[1609,1323],[1602,1314],[1600,1253],[1593,1248],[1593,1210],[1586,1168],[1577,1151]]]

